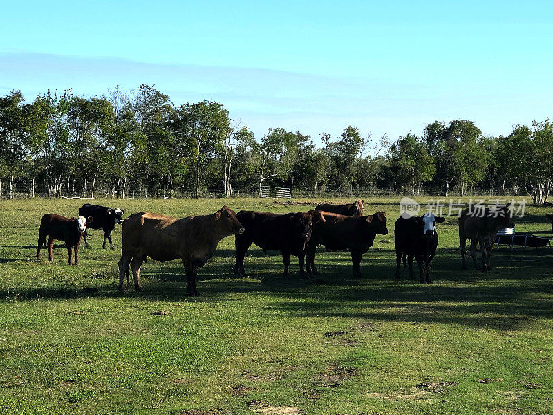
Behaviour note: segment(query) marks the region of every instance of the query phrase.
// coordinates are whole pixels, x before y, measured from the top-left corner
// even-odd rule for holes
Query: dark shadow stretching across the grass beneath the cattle
[[[545,250],[543,251],[545,252]],[[411,322],[458,324],[472,329],[502,331],[522,329],[532,321],[553,318],[553,257],[537,252],[496,250],[491,273],[472,268],[460,270],[458,250],[441,250],[433,262],[434,284],[418,284],[402,270],[395,280],[395,258],[391,250],[373,250],[364,255],[364,278],[352,276],[350,255],[346,252],[317,252],[315,263],[321,275],[304,279],[299,275],[296,257],[290,261],[290,279],[283,277],[281,255],[250,250],[245,261],[248,277],[235,276],[234,251],[221,250],[198,273],[202,297],[186,297],[182,264],[173,261],[142,268],[143,293],[137,293],[132,277],[126,294],[117,291],[118,275],[112,273],[81,282],[84,288],[52,287],[26,291],[19,300],[77,297],[126,297],[138,301],[239,302],[252,293],[268,295],[271,312],[290,317],[345,317],[366,322]],[[480,259],[480,257],[479,257]],[[415,277],[418,268],[415,265]],[[93,284],[97,291],[88,288]],[[0,298],[13,297],[13,291],[0,291]]]

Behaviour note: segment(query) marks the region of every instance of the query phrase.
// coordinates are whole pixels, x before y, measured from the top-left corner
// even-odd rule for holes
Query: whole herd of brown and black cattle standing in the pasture
[[[327,251],[347,250],[351,253],[353,275],[361,275],[362,255],[373,246],[377,234],[388,234],[386,212],[376,212],[363,216],[364,201],[346,205],[317,205],[308,212],[276,214],[241,210],[235,214],[223,206],[214,214],[189,216],[183,219],[162,214],[140,212],[131,214],[123,220],[124,210],[98,205],[83,205],[77,218],[66,218],[57,214],[42,216],[39,230],[37,259],[40,250],[48,246],[48,257],[53,261],[52,248],[55,239],[65,241],[69,264],[73,264],[72,250],[75,252],[75,264],[79,264],[78,252],[81,239],[85,246],[88,229],[104,231],[110,243],[111,231],[122,223],[122,252],[119,261],[119,289],[125,291],[125,276],[129,279],[131,269],[135,287],[142,291],[140,267],[150,257],[156,261],[181,259],[187,277],[187,294],[199,295],[196,289],[196,274],[215,254],[221,239],[235,234],[236,263],[234,273],[246,275],[244,257],[247,249],[254,243],[263,252],[280,250],[284,262],[284,275],[288,277],[290,255],[299,259],[300,275],[318,274],[315,267],[315,252],[319,245]],[[432,213],[423,216],[400,216],[395,222],[394,239],[396,252],[396,278],[400,278],[400,265],[406,259],[409,264],[409,276],[414,279],[413,259],[420,269],[420,282],[431,282],[431,261],[438,247],[436,223],[443,222],[441,216]],[[496,209],[464,210],[459,215],[459,237],[462,268],[465,264],[465,244],[471,241],[470,252],[475,268],[476,247],[480,243],[482,250],[482,270],[491,270],[489,259],[494,237],[502,228],[512,228],[512,214],[509,205]],[[46,237],[48,241],[46,241]],[[307,256],[307,262],[305,258]],[[306,271],[303,269],[305,265]]]

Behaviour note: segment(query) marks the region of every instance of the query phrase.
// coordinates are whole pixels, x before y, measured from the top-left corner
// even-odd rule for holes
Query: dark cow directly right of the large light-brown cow
[[[311,237],[313,219],[308,213],[276,214],[269,212],[252,212],[241,210],[236,215],[245,228],[243,234],[236,235],[236,263],[234,273],[246,275],[244,257],[247,248],[255,243],[263,249],[280,250],[284,262],[284,276],[289,277],[290,254],[299,259],[299,273],[303,271],[303,261],[306,256],[306,247]]]

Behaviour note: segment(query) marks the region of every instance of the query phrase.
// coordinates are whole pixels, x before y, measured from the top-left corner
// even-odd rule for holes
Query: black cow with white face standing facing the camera
[[[434,216],[431,213],[423,216],[411,216],[406,218],[400,216],[395,221],[395,277],[400,279],[400,263],[403,255],[403,268],[405,269],[405,257],[409,261],[409,277],[413,275],[413,257],[417,260],[420,269],[420,283],[432,282],[430,279],[431,262],[438,247],[438,232],[436,222],[443,222],[445,218]],[[425,275],[426,274],[426,275]]]

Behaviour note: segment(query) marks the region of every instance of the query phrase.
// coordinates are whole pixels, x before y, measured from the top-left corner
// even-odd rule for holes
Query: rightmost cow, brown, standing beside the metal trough
[[[482,272],[491,271],[489,260],[491,257],[491,248],[494,247],[494,239],[497,231],[503,228],[513,228],[512,212],[510,211],[511,203],[498,208],[467,208],[459,214],[459,239],[461,250],[461,269],[467,269],[465,257],[467,252],[467,238],[471,241],[469,250],[474,261],[474,268],[478,268],[476,264],[476,245],[480,243],[482,250]]]

